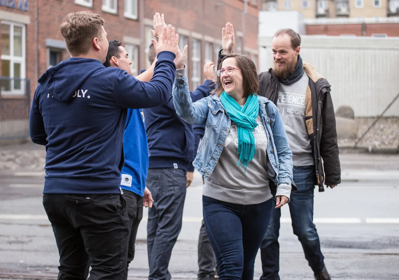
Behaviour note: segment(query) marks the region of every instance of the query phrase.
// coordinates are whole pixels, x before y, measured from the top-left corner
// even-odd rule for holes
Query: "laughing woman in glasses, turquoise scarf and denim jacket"
[[[292,153],[284,125],[258,89],[255,64],[235,53],[222,60],[214,95],[192,103],[186,77],[176,79],[173,89],[177,114],[205,126],[193,164],[205,179],[203,221],[220,280],[253,279],[272,207],[288,203],[291,192]],[[270,181],[277,185],[277,205]]]

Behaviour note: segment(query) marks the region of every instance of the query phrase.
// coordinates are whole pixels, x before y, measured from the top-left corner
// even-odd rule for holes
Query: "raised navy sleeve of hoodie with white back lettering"
[[[154,75],[150,82],[136,80],[126,71],[119,69],[115,75],[115,103],[122,108],[150,108],[164,105],[172,95],[176,55],[170,51],[158,53]]]

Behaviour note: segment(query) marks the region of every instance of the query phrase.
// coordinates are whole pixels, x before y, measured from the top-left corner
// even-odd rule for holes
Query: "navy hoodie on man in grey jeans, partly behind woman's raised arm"
[[[213,89],[214,83],[206,80],[194,92],[190,92],[192,101],[207,97]],[[193,126],[178,116],[172,95],[165,105],[143,111],[151,154],[149,168],[178,168],[194,172],[192,162],[196,153]]]

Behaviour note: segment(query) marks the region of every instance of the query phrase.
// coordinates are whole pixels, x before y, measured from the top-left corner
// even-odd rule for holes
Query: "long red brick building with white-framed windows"
[[[108,39],[118,39],[129,53],[133,73],[149,65],[152,18],[164,13],[176,27],[180,45],[188,45],[190,88],[199,85],[203,64],[217,60],[221,29],[235,28],[235,51],[258,61],[257,0],[0,0],[0,139],[28,136],[28,116],[37,80],[69,54],[59,25],[69,12],[88,10],[105,20]]]

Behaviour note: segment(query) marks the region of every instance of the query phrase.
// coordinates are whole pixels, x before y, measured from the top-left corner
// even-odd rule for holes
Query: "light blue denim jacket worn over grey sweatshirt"
[[[205,179],[208,179],[223,150],[230,129],[230,117],[217,96],[210,95],[192,103],[186,76],[175,78],[172,94],[180,118],[190,124],[205,126],[205,134],[193,165]],[[265,111],[266,105],[270,120]],[[289,198],[293,168],[292,152],[279,110],[269,99],[259,96],[259,115],[270,140],[267,145],[269,158],[267,173],[277,185],[276,195],[285,195]]]

